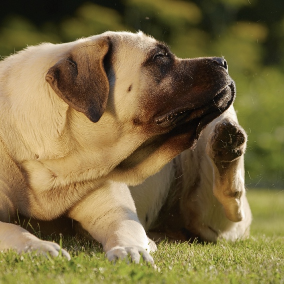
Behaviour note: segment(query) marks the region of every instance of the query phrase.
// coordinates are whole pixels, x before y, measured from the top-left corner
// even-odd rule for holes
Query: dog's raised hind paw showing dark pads
[[[223,120],[216,124],[209,137],[207,153],[216,163],[231,162],[244,153],[246,137],[245,131],[239,124]]]

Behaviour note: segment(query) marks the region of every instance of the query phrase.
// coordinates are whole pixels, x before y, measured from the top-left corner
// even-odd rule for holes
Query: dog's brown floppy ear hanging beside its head
[[[99,121],[107,106],[109,81],[104,58],[109,49],[108,38],[78,44],[46,75],[56,94],[93,122]]]

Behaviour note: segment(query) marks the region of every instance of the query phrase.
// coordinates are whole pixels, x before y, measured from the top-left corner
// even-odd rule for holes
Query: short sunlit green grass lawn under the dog
[[[248,240],[163,242],[153,255],[154,269],[145,263],[113,264],[100,245],[64,239],[70,261],[0,254],[0,283],[284,283],[284,191],[253,189],[247,195],[254,216]]]

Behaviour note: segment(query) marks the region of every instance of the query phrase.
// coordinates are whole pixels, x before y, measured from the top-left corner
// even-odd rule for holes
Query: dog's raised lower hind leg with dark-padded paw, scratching
[[[215,125],[206,146],[213,165],[213,194],[223,205],[226,217],[233,222],[243,220],[245,211],[250,213],[244,187],[245,147],[245,131],[230,118]]]

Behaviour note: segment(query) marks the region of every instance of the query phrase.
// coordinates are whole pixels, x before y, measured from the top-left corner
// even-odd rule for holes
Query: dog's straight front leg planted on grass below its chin
[[[139,263],[140,256],[154,263],[150,251],[156,249],[141,225],[128,186],[106,182],[78,203],[69,216],[81,223],[92,237],[101,242],[109,260],[125,258]]]

